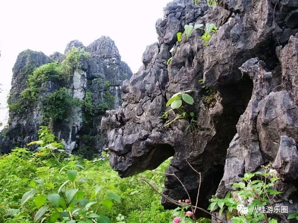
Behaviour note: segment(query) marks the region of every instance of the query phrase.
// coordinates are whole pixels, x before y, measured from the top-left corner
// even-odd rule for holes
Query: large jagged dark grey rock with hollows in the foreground
[[[147,47],[144,65],[122,86],[121,107],[102,121],[114,170],[130,176],[174,155],[167,173],[175,173],[195,201],[199,180],[190,162],[201,172],[199,204],[206,208],[212,194],[224,196],[245,172],[276,159],[281,168],[294,143],[280,143],[280,137],[297,142],[298,136],[298,34],[291,36],[298,31],[297,8],[297,0],[218,1],[211,9],[191,0],[167,4],[164,19],[156,22],[159,43]],[[207,47],[199,38],[201,30],[177,42],[176,33],[190,23],[214,23],[219,29]],[[217,90],[215,105],[203,103],[206,90],[199,79]],[[159,116],[167,100],[186,90],[194,98],[189,112],[195,113],[199,129],[190,131],[187,119],[164,128]],[[282,152],[282,144],[291,146]],[[287,162],[280,174],[296,176],[289,170],[296,154]],[[166,176],[163,192],[176,200],[187,198],[174,176]]]

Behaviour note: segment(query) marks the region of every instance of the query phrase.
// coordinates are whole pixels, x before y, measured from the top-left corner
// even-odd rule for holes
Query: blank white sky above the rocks
[[[110,36],[122,61],[136,73],[146,46],[157,41],[155,22],[170,1],[0,0],[1,107],[6,106],[16,58],[26,49],[49,56],[64,53],[66,44],[75,39],[87,46],[100,36]],[[0,110],[0,122],[6,111]]]

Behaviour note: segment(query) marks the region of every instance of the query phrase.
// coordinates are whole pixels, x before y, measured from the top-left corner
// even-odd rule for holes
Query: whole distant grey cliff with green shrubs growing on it
[[[119,105],[120,87],[131,75],[106,36],[87,47],[71,41],[65,54],[21,52],[13,67],[9,127],[1,132],[0,153],[25,147],[36,139],[39,126],[49,125],[69,152],[76,148],[91,158],[105,148],[101,118]]]

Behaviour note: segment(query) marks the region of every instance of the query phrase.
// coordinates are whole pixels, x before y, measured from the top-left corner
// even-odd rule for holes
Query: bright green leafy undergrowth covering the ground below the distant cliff
[[[160,222],[160,196],[144,182],[163,187],[164,176],[145,171],[121,179],[106,159],[71,156],[47,127],[41,127],[38,151],[15,148],[0,157],[0,222]],[[158,167],[164,172],[170,159]],[[9,187],[7,187],[9,185]],[[120,219],[120,220],[119,220]]]

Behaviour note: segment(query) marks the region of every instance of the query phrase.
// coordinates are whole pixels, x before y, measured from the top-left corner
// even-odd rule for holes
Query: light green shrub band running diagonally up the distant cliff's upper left
[[[90,56],[90,53],[86,52],[84,49],[72,47],[71,50],[67,52],[66,58],[62,61],[61,65],[58,63],[48,63],[36,68],[31,74],[28,75],[26,81],[27,87],[20,93],[18,99],[14,102],[10,102],[10,100],[16,95],[11,95],[9,97],[9,112],[23,114],[27,108],[32,107],[33,103],[38,101],[40,97],[43,97],[41,96],[41,93],[44,90],[42,89],[42,84],[46,83],[47,81],[59,81],[60,83],[63,83],[63,85],[66,85],[68,78],[72,75],[73,69],[77,68],[78,61]],[[27,65],[27,70],[29,69],[28,66],[30,66],[30,64]],[[30,68],[29,70],[32,69]],[[61,90],[61,92],[62,91],[63,90]],[[45,101],[47,100],[45,99]],[[60,106],[61,104],[56,105]],[[57,109],[59,108],[57,107]],[[46,117],[47,115],[48,113],[46,113]],[[58,116],[58,119],[60,117]],[[47,118],[55,119],[55,117]]]

